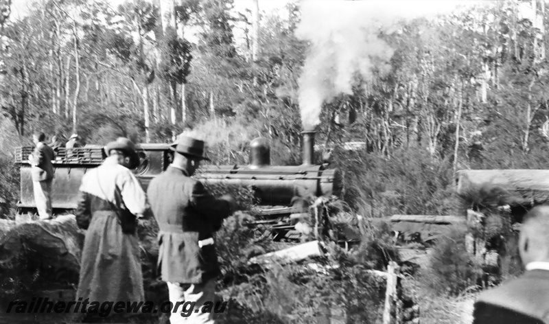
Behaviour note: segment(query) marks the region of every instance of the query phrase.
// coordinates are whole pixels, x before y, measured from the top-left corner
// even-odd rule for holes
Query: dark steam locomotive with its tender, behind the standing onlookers
[[[301,165],[271,165],[270,146],[266,139],[250,143],[248,165],[203,165],[196,178],[205,184],[227,187],[251,187],[256,202],[262,206],[289,207],[294,197],[338,196],[341,176],[337,169],[314,164],[314,132],[303,132],[303,163]],[[27,161],[32,147],[16,150],[20,168],[21,192],[19,213],[36,212],[31,166]],[[144,190],[154,176],[163,172],[172,161],[170,144],[147,143],[139,146],[140,165],[135,174]],[[101,146],[61,148],[54,165],[51,203],[54,213],[71,213],[77,207],[78,188],[87,170],[100,165],[105,157]]]

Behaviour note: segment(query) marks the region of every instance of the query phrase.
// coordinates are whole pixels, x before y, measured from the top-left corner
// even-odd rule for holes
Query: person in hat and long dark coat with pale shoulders
[[[137,217],[145,192],[130,171],[139,164],[134,143],[120,137],[105,147],[107,158],[82,177],[76,221],[87,229],[77,299],[143,301]]]

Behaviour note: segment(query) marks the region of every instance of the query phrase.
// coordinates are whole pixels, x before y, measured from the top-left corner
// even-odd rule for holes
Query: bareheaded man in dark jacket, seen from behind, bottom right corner
[[[487,290],[475,303],[474,324],[549,323],[549,206],[531,209],[521,224],[519,253],[526,272]]]

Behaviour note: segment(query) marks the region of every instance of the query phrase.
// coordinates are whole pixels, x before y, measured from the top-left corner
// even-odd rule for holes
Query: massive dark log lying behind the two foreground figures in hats
[[[138,235],[145,290],[156,280],[156,222],[143,220]],[[74,215],[54,220],[18,220],[0,222],[0,286],[2,279],[32,277],[43,286],[59,283],[76,285],[85,231],[78,227]]]

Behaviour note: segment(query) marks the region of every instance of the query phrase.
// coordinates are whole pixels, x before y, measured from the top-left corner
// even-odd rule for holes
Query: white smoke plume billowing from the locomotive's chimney
[[[464,1],[435,0],[304,0],[296,35],[309,42],[299,79],[303,128],[320,123],[323,102],[352,93],[355,73],[371,80],[372,68],[388,68],[393,56],[380,31],[391,32],[397,21],[450,12]]]

